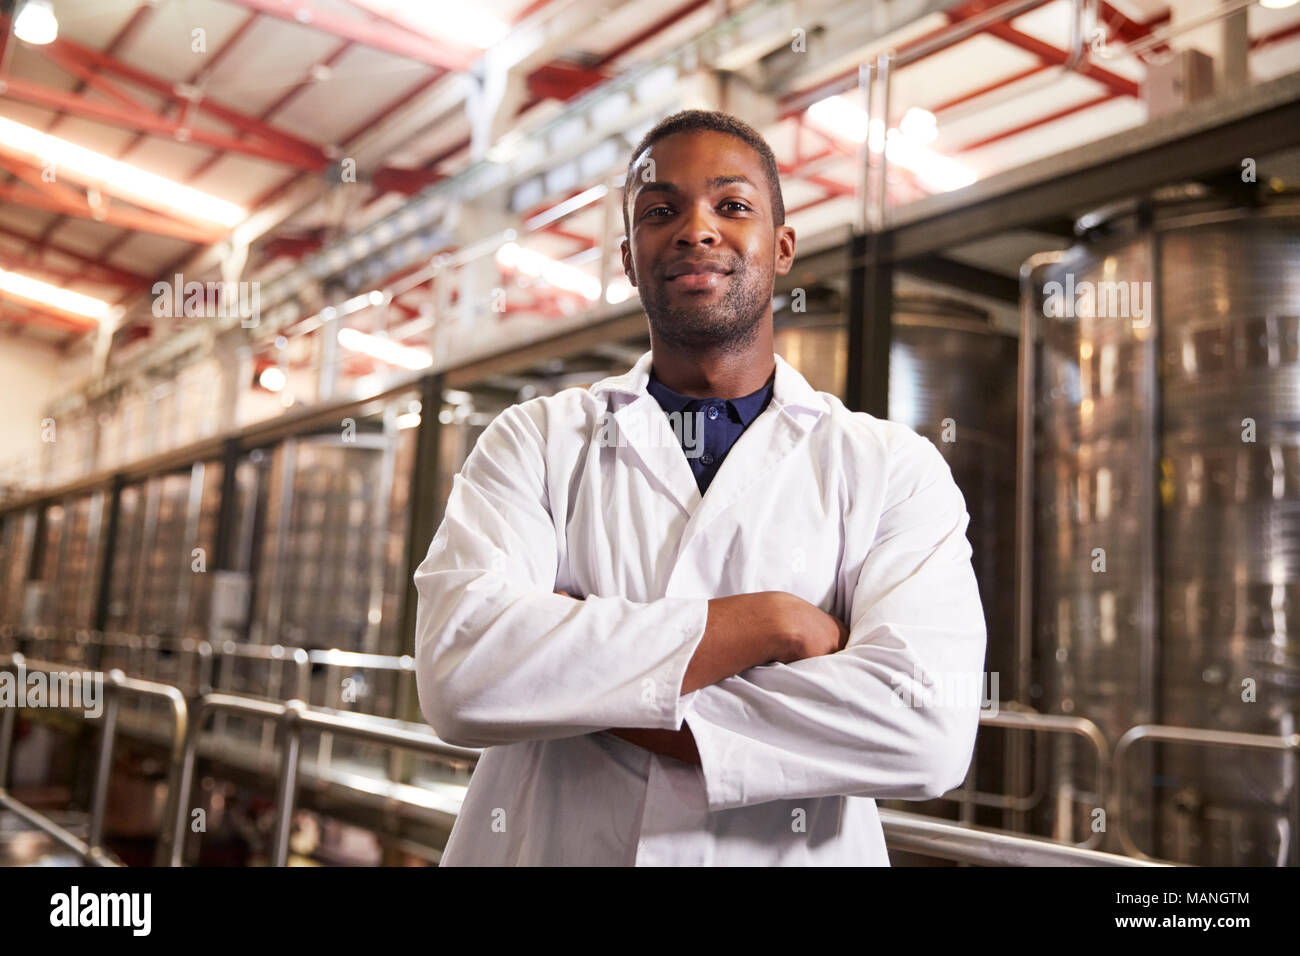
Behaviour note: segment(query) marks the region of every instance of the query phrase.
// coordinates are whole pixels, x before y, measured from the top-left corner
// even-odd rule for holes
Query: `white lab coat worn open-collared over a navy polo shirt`
[[[421,710],[488,748],[442,862],[888,866],[872,797],[961,784],[979,722],[935,689],[984,666],[952,472],[777,356],[701,497],[650,362],[502,412],[416,570]],[[848,646],[680,695],[708,598],[759,591],[845,620]],[[926,687],[936,705],[904,706]],[[602,732],[684,722],[702,767]]]

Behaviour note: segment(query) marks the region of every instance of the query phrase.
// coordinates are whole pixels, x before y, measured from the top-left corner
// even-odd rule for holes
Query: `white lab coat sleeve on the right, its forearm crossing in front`
[[[965,779],[987,640],[970,516],[937,449],[907,436],[896,440],[906,451],[889,488],[900,490],[870,549],[845,541],[844,561],[858,544],[861,564],[848,579],[845,649],[689,695],[710,810],[832,795],[924,800]]]

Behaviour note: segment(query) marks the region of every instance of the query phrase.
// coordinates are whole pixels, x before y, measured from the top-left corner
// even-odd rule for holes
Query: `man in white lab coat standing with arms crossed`
[[[978,695],[936,693],[984,663],[965,501],[774,354],[758,133],[671,116],[624,193],[651,351],[502,412],[415,574],[424,715],[488,748],[442,862],[887,866],[874,797],[974,748]]]

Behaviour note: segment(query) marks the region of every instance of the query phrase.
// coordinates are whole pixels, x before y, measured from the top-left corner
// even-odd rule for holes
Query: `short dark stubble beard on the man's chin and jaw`
[[[746,268],[740,260],[720,295],[675,295],[666,280],[638,291],[656,341],[676,351],[738,352],[758,336],[772,302],[772,274]]]

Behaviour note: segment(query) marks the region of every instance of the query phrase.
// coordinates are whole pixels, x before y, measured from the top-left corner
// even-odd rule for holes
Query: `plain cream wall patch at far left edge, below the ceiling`
[[[42,453],[46,406],[90,373],[90,350],[62,355],[30,339],[0,337],[0,473]]]

